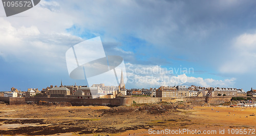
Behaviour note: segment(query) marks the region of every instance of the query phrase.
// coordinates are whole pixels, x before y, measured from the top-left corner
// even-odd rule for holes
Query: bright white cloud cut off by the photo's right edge
[[[223,58],[222,73],[254,73],[256,68],[256,33],[238,36]]]

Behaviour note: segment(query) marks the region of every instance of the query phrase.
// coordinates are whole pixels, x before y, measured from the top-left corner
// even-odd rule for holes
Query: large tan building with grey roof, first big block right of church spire
[[[178,97],[179,92],[177,91],[177,88],[175,87],[164,87],[161,86],[156,91],[156,97]]]

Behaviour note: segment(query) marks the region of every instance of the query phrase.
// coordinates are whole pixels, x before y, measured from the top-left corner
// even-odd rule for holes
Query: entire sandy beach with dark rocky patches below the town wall
[[[125,107],[122,107],[125,109]],[[131,107],[127,107],[131,108]],[[39,106],[0,104],[0,130],[9,130],[9,135],[172,135],[151,134],[153,130],[190,131],[214,130],[227,135],[228,129],[256,129],[256,108],[242,107],[193,107],[189,110],[166,110],[159,114],[150,111],[113,112],[106,106]],[[135,108],[136,109],[136,108]],[[247,116],[247,117],[246,117]],[[131,127],[132,126],[132,127]],[[26,128],[26,129],[25,129]],[[89,129],[90,128],[90,129]],[[42,131],[41,134],[37,131]],[[88,129],[84,131],[84,129]],[[31,133],[31,131],[34,133]],[[89,131],[90,130],[90,131]],[[225,134],[220,134],[225,130]],[[30,132],[30,134],[20,134]],[[98,131],[96,133],[90,133]],[[115,131],[115,132],[113,132]],[[169,132],[170,132],[169,131]],[[8,131],[2,131],[8,133]],[[88,134],[87,134],[88,133]],[[1,134],[1,132],[0,132]],[[234,132],[235,134],[235,132]],[[6,135],[6,134],[4,134]],[[176,135],[190,135],[184,132]],[[248,134],[237,134],[248,135]],[[255,134],[249,134],[255,135]]]

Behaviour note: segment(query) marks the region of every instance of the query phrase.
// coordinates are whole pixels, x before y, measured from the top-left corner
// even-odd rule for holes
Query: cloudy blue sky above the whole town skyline
[[[100,37],[123,58],[131,88],[256,88],[256,1],[45,1],[6,17],[0,4],[0,91],[87,85],[66,51]]]

